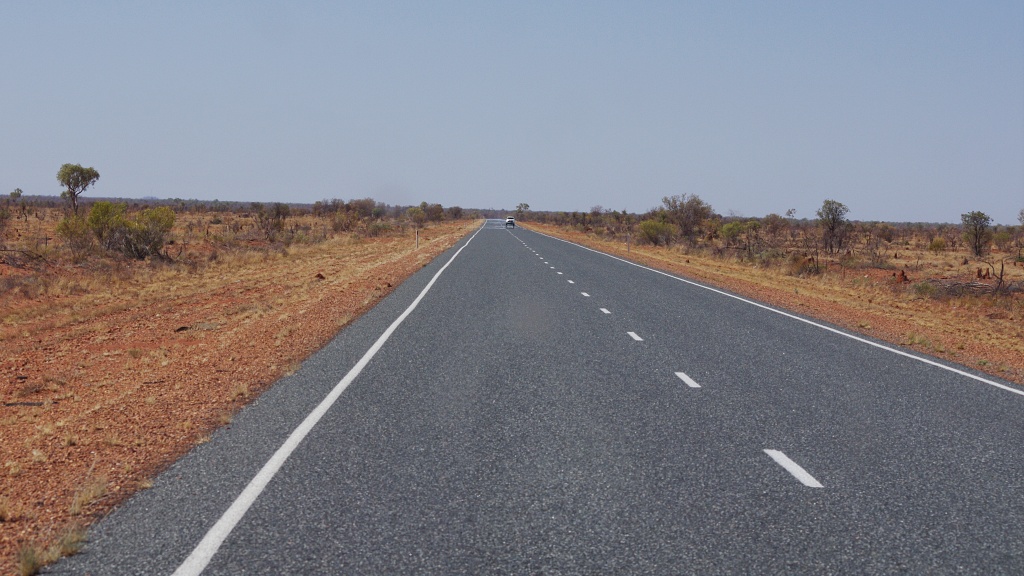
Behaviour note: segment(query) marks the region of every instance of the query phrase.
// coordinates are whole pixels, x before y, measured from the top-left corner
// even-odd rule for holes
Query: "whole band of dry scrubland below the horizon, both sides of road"
[[[65,164],[57,172],[66,189],[60,199],[29,197],[19,189],[0,198],[0,261],[25,266],[61,258],[77,263],[123,258],[196,265],[225,250],[267,250],[336,235],[406,235],[445,219],[515,214],[525,222],[567,227],[605,240],[699,251],[782,266],[795,275],[820,273],[821,258],[895,269],[892,260],[909,249],[965,252],[990,275],[997,275],[1001,265],[1024,262],[1024,208],[1018,214],[1021,225],[1008,227],[992,224],[980,211],[963,214],[959,224],[851,220],[850,208],[833,199],[822,202],[815,218],[797,218],[795,210],[741,217],[719,214],[698,196],[685,194],[667,196],[660,206],[643,214],[601,206],[578,212],[532,211],[526,203],[514,211],[464,210],[428,202],[389,205],[372,198],[310,205],[83,197],[98,179],[94,168]]]

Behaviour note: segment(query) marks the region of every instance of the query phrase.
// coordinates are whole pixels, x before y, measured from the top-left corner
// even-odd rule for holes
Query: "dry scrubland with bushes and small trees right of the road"
[[[1001,227],[992,224],[992,218],[980,211],[963,214],[959,224],[851,220],[850,209],[831,199],[822,202],[813,219],[798,219],[795,214],[788,210],[784,216],[723,216],[699,197],[681,195],[665,197],[660,206],[643,214],[594,206],[580,212],[526,210],[519,213],[519,219],[565,227],[609,241],[781,268],[796,276],[820,274],[827,265],[825,258],[841,266],[896,271],[907,268],[899,261],[901,251],[962,252],[979,264],[977,276],[996,279],[997,290],[1022,289],[999,279],[1004,266],[1024,264],[1024,209],[1018,214],[1021,225]],[[968,264],[967,259],[962,264]],[[895,272],[894,276],[900,278]]]

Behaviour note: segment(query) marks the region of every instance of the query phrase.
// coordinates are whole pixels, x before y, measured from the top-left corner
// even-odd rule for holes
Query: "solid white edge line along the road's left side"
[[[370,346],[370,349],[362,355],[362,358],[355,363],[355,366],[353,366],[352,369],[345,374],[345,377],[334,386],[334,389],[332,389],[331,393],[328,394],[323,401],[321,401],[316,408],[314,408],[313,411],[310,412],[304,420],[302,420],[302,423],[300,423],[298,427],[292,431],[285,443],[281,445],[281,448],[279,448],[278,451],[273,453],[273,456],[271,456],[270,459],[263,464],[263,467],[256,472],[256,476],[249,482],[249,485],[246,486],[245,490],[243,490],[242,493],[239,494],[238,498],[231,502],[227,511],[225,511],[223,516],[220,517],[220,520],[218,520],[217,523],[210,528],[210,531],[206,533],[203,540],[201,540],[191,553],[188,554],[188,558],[186,558],[185,561],[181,563],[181,566],[174,571],[174,576],[198,576],[199,574],[202,574],[206,566],[210,564],[210,560],[212,560],[213,556],[217,553],[217,549],[220,548],[220,545],[231,533],[231,530],[233,530],[239,524],[242,517],[246,515],[249,507],[252,506],[253,502],[256,501],[256,498],[258,498],[260,493],[263,492],[263,489],[266,488],[266,485],[269,484],[270,480],[272,480],[274,475],[278,474],[278,470],[280,470],[281,466],[285,464],[285,461],[289,456],[291,456],[292,452],[295,451],[302,440],[305,439],[306,435],[308,435],[309,431],[312,430],[313,426],[316,425],[316,422],[318,422],[331,406],[334,405],[335,401],[338,400],[338,397],[341,396],[341,393],[345,392],[345,388],[352,383],[352,381],[359,375],[362,369],[366,368],[374,356],[377,355],[377,353],[384,345],[384,342],[391,337],[391,334],[397,330],[398,326],[406,320],[406,318],[409,317],[414,310],[416,310],[420,300],[426,296],[427,292],[434,285],[434,282],[436,282],[440,277],[441,273],[443,273],[444,270],[447,269],[457,257],[459,257],[459,254],[462,253],[466,246],[469,246],[469,243],[476,238],[476,235],[480,233],[480,230],[483,230],[483,227],[477,230],[476,233],[462,245],[462,248],[459,248],[459,250],[452,255],[449,261],[441,266],[441,270],[434,274],[434,277],[430,279],[430,282],[428,282],[423,288],[420,295],[413,300],[413,303],[409,304],[406,312],[401,313],[401,316],[395,319],[395,321],[387,327],[387,330],[385,330],[384,333],[377,338],[377,341]]]

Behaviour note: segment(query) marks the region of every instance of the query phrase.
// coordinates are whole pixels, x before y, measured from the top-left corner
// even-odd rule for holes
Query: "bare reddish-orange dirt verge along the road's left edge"
[[[0,264],[0,573],[151,486],[478,225],[432,225],[418,249],[412,231],[345,234],[193,271]]]

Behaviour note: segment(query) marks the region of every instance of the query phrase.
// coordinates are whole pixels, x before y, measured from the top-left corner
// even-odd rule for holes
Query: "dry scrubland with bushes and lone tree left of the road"
[[[225,250],[313,244],[337,235],[404,235],[445,219],[477,217],[459,206],[392,206],[372,198],[313,204],[219,200],[89,199],[99,172],[63,164],[60,198],[0,197],[0,263],[20,269],[100,260],[156,260],[196,265]],[[40,269],[41,270],[41,269]]]

